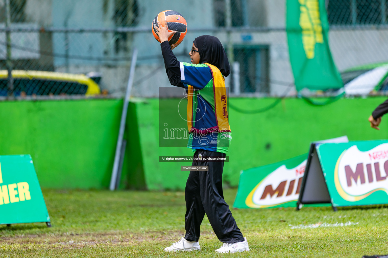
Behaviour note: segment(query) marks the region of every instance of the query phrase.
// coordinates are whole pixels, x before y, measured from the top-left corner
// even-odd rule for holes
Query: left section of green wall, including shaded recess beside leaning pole
[[[122,105],[120,99],[2,101],[0,155],[31,154],[42,187],[107,188]],[[134,112],[130,103],[126,137],[131,144],[121,188],[144,188],[141,155],[129,155],[140,149]]]

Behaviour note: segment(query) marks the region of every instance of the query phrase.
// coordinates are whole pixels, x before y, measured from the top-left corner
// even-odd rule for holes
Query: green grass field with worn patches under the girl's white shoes
[[[235,189],[225,190],[231,206]],[[164,253],[184,235],[183,192],[43,190],[52,220],[0,226],[0,257],[359,257],[388,254],[388,208],[232,210],[250,252],[215,254],[208,219],[200,252]],[[341,226],[341,223],[342,226]],[[314,224],[314,225],[313,225]],[[290,226],[291,225],[291,226]]]

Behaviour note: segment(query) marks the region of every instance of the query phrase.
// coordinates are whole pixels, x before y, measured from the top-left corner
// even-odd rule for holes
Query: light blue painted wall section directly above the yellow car
[[[53,0],[52,26],[57,28],[113,27],[113,1],[105,0]],[[55,33],[53,48],[61,55],[112,57],[112,33]],[[81,60],[57,56],[55,67],[67,64],[98,65],[94,60]]]

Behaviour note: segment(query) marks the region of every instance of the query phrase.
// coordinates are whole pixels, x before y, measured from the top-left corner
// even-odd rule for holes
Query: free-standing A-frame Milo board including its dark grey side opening
[[[297,209],[388,203],[388,141],[316,144],[308,157]]]

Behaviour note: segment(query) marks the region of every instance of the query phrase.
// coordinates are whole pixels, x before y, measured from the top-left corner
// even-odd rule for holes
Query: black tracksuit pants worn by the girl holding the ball
[[[196,150],[194,157],[222,156],[224,153]],[[185,188],[185,239],[198,241],[201,222],[206,213],[218,239],[223,243],[244,241],[229,205],[223,199],[223,162],[193,161],[192,166],[209,166],[209,171],[190,171]]]

